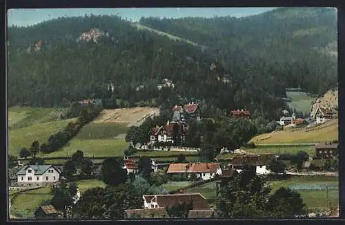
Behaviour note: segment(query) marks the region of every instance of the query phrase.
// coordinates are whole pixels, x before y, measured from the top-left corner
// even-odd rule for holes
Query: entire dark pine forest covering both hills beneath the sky
[[[140,23],[208,48],[138,30],[117,16],[10,27],[9,106],[68,106],[105,96],[127,106],[193,100],[206,117],[246,108],[275,119],[286,107],[285,88],[321,95],[337,84],[337,57],[328,53],[337,40],[337,21],[328,9]],[[92,29],[102,33],[97,40],[79,39]],[[173,86],[164,86],[170,81]],[[110,93],[109,82],[115,86]]]

